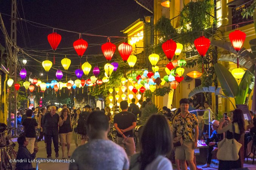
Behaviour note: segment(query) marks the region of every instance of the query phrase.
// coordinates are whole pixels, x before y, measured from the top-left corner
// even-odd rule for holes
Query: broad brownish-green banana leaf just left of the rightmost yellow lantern
[[[235,97],[239,89],[231,72],[220,63],[214,64],[214,69],[224,94],[228,97]]]

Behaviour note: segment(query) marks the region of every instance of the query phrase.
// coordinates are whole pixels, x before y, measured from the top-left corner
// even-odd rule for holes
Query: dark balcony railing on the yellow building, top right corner
[[[244,3],[243,5],[237,6],[232,9],[232,24],[239,24],[239,26],[242,27],[242,26],[253,23],[253,21],[250,21],[250,20],[253,20],[253,17],[243,18],[241,14],[243,9],[247,9],[252,3],[253,3],[253,0],[250,0],[249,2]],[[250,21],[250,22],[246,22],[246,21]],[[235,29],[235,28],[236,28],[236,25],[233,25],[232,29]]]

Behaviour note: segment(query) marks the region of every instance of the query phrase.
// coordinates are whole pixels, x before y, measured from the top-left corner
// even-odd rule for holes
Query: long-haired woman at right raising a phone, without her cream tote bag
[[[234,126],[234,136],[233,136],[233,126]],[[244,114],[241,109],[235,109],[232,112],[232,121],[229,117],[227,120],[224,118],[221,119],[218,128],[218,134],[227,133],[226,138],[232,139],[234,138],[236,141],[239,141],[241,135],[245,132],[245,122],[244,122]],[[240,154],[239,159],[237,161],[222,161],[219,160],[219,170],[230,170],[236,168],[242,168]]]

